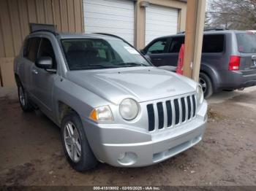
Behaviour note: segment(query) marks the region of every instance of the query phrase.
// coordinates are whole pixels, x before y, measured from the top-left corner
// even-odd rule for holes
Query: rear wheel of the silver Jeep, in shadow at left
[[[20,107],[23,112],[31,112],[34,110],[34,107],[29,101],[28,94],[21,84],[18,85],[18,97],[20,101]]]

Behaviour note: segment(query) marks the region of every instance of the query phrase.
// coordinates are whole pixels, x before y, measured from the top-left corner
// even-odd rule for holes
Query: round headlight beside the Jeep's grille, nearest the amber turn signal
[[[134,120],[139,113],[139,106],[137,101],[127,98],[121,102],[119,112],[124,120]]]

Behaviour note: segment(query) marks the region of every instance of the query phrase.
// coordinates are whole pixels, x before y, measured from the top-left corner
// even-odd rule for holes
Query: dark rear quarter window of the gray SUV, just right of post
[[[218,53],[224,50],[224,35],[203,36],[203,53]]]

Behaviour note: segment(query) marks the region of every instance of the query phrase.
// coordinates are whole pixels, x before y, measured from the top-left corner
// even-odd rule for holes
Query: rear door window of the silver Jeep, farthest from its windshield
[[[40,38],[30,38],[26,41],[24,57],[34,62],[37,58],[37,52],[40,44]]]

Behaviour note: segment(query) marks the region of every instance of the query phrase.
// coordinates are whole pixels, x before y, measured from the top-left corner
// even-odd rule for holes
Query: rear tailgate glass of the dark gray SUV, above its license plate
[[[256,53],[255,34],[236,34],[238,51],[242,53]]]

